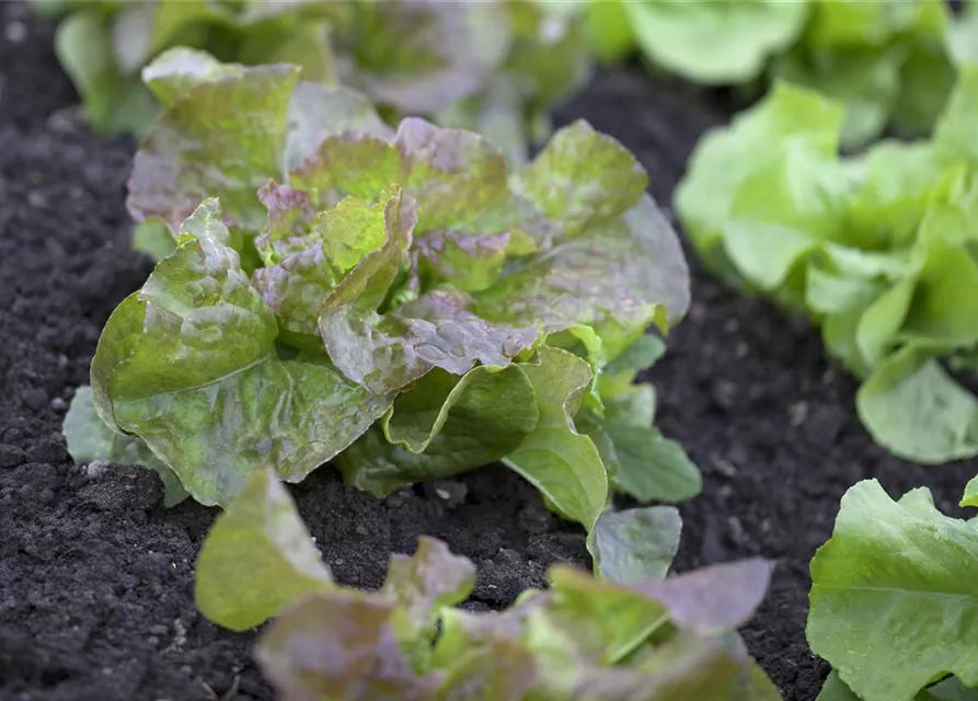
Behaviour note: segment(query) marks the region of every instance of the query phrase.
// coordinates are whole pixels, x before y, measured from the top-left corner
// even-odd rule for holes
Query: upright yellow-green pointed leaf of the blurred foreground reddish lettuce
[[[197,608],[218,625],[244,631],[309,594],[333,588],[330,570],[275,471],[255,472],[215,519],[200,549]]]

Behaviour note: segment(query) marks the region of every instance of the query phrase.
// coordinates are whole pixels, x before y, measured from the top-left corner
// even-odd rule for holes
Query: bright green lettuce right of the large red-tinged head
[[[806,313],[864,380],[863,423],[920,462],[978,455],[978,69],[933,138],[839,158],[841,105],[781,83],[697,146],[676,209],[735,285]]]

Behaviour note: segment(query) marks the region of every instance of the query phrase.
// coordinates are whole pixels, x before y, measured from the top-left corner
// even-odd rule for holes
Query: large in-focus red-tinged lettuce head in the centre
[[[632,384],[689,273],[620,143],[578,122],[509,174],[485,138],[391,129],[295,66],[173,49],[146,72],[168,106],[128,207],[174,240],[106,323],[76,458],[204,504],[268,466],[296,482],[332,460],[383,495],[503,460],[589,530],[613,490],[699,491]]]

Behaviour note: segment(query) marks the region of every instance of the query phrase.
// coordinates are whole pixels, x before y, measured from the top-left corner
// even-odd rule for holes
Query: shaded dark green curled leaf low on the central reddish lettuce
[[[368,430],[336,466],[348,484],[383,496],[504,458],[539,417],[533,386],[515,365],[480,366],[461,379],[436,369],[399,394],[383,430]]]

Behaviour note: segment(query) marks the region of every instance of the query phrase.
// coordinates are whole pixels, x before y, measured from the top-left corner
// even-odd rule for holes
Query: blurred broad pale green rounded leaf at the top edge
[[[638,47],[656,65],[702,83],[747,82],[801,34],[808,2],[624,2]]]

